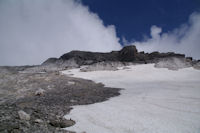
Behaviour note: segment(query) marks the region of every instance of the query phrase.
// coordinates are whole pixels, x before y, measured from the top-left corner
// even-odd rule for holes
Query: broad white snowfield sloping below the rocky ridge
[[[67,118],[77,133],[199,133],[200,71],[171,71],[153,64],[118,71],[64,71],[75,77],[124,88],[102,103],[74,106]]]

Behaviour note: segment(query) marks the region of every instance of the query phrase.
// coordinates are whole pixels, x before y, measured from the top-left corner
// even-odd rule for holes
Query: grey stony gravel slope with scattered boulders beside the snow
[[[59,72],[0,67],[0,133],[73,133],[62,129],[76,123],[63,117],[71,106],[102,102],[119,91]]]

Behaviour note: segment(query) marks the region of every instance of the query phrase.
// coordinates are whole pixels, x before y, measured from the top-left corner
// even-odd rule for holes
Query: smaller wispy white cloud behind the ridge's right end
[[[133,42],[140,51],[178,52],[200,59],[200,14],[193,13],[187,24],[168,33],[162,33],[157,26],[151,27],[151,38]]]

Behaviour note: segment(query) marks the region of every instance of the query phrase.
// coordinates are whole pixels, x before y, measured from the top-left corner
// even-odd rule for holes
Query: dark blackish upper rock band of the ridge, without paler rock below
[[[145,52],[138,52],[137,48],[134,45],[126,46],[122,48],[120,51],[112,51],[109,53],[100,53],[100,52],[86,52],[86,51],[71,51],[62,55],[60,58],[49,58],[46,60],[42,65],[46,64],[58,64],[62,65],[65,64],[65,68],[67,68],[67,64],[70,64],[70,61],[77,64],[78,66],[81,65],[91,65],[98,62],[132,62],[132,63],[155,63],[161,58],[169,58],[169,57],[176,57],[176,58],[185,58],[184,54],[176,54],[173,52],[168,53],[159,53],[159,52],[152,52],[152,53],[145,53]],[[71,65],[70,67],[73,67]],[[74,66],[77,67],[77,66]]]

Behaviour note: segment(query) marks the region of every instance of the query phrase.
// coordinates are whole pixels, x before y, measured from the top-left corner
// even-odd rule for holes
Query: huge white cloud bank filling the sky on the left
[[[0,1],[0,65],[39,64],[71,50],[119,50],[114,26],[74,0]]]

